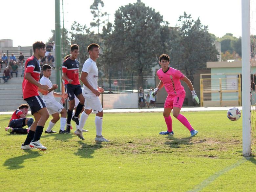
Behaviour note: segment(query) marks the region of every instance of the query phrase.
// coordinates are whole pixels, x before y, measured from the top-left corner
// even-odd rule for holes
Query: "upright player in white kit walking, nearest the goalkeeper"
[[[102,119],[103,119],[103,108],[101,106],[99,95],[104,92],[102,87],[98,86],[98,68],[96,65],[96,59],[99,57],[99,45],[93,43],[87,47],[90,58],[87,59],[83,65],[80,80],[83,82],[83,96],[85,98],[85,110],[81,114],[78,129],[74,134],[80,139],[84,140],[82,134],[82,128],[88,116],[92,113],[96,113],[95,125],[96,125],[96,138],[95,141],[109,142],[102,136]]]

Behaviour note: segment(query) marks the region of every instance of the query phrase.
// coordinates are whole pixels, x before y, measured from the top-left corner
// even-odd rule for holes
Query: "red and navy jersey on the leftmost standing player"
[[[39,95],[37,86],[25,79],[25,74],[31,73],[31,76],[38,81],[40,72],[41,68],[38,59],[35,56],[29,57],[25,64],[24,79],[22,83],[23,99]]]

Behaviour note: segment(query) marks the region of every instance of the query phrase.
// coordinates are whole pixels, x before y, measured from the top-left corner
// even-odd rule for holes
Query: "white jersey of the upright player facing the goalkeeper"
[[[99,71],[98,71],[96,62],[94,60],[92,60],[91,58],[87,59],[84,62],[82,72],[85,72],[85,73],[88,74],[87,77],[86,77],[88,83],[94,89],[97,90],[97,88],[98,88],[98,73],[99,73]],[[95,96],[95,94],[90,89],[88,89],[88,87],[83,85],[83,96],[85,96],[85,97],[86,96]]]

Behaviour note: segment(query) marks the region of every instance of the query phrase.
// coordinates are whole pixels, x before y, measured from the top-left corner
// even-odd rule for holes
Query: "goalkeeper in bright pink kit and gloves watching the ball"
[[[194,130],[188,122],[187,118],[180,114],[181,107],[185,98],[185,90],[181,85],[181,81],[186,82],[192,93],[192,98],[199,104],[198,96],[195,93],[191,81],[183,75],[179,70],[169,67],[170,57],[167,54],[162,54],[159,57],[159,64],[161,69],[157,71],[157,76],[160,79],[160,83],[152,92],[152,96],[155,97],[158,91],[164,86],[168,93],[164,103],[163,117],[167,125],[167,131],[162,131],[160,135],[173,135],[172,131],[172,118],[170,113],[176,117],[191,133],[191,137],[197,135],[198,131]]]

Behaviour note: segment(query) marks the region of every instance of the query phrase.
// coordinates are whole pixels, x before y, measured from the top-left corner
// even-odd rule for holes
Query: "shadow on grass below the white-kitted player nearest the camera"
[[[74,154],[77,156],[81,156],[81,158],[94,158],[92,156],[92,154],[94,154],[94,151],[103,147],[101,143],[96,143],[93,145],[88,145],[82,141],[78,141],[78,143],[81,145],[81,147]]]

